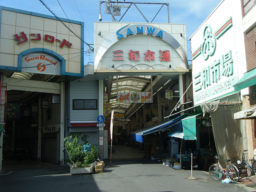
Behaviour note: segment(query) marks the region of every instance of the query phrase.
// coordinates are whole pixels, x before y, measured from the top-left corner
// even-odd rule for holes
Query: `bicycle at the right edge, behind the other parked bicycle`
[[[249,161],[252,162],[252,165],[250,165],[246,159],[247,159],[247,153],[248,150],[244,150],[242,155],[239,155],[236,157],[237,160],[237,168],[240,172],[241,177],[250,177],[252,173],[255,174],[256,171],[256,160],[255,159],[249,159]],[[246,157],[246,158],[245,158]]]

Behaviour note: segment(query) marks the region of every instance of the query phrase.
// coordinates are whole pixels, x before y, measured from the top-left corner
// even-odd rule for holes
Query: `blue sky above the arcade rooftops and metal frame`
[[[58,17],[69,20],[77,20],[84,22],[84,41],[88,44],[93,44],[93,22],[99,21],[99,5],[98,0],[42,0],[52,12]],[[122,4],[123,0],[118,0]],[[127,1],[126,2],[133,2]],[[136,0],[134,2],[149,2],[149,3],[169,3],[170,4],[170,22],[185,23],[187,31],[187,47],[188,60],[191,60],[191,51],[189,37],[196,31],[204,20],[211,14],[221,0]],[[15,9],[52,15],[52,13],[39,0],[1,0],[1,6],[11,7]],[[129,5],[129,4],[125,4]],[[140,11],[145,15],[147,20],[151,22],[159,11],[162,5],[153,4],[137,4]],[[121,9],[121,16],[127,8]],[[102,21],[112,21],[111,15],[104,13],[104,3],[101,4]],[[153,22],[168,23],[167,6],[164,5],[157,14]],[[53,16],[53,15],[52,15]],[[121,16],[116,16],[119,20]],[[126,12],[120,22],[146,22],[137,8],[132,5]],[[85,56],[84,64],[93,61],[93,55]],[[191,62],[189,62],[191,63]]]

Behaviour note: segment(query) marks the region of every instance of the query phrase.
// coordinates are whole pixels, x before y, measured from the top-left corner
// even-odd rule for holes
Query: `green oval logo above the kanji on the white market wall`
[[[216,49],[216,38],[212,33],[210,24],[206,24],[204,27],[203,43],[201,45],[202,57],[207,60],[209,56],[212,56]]]

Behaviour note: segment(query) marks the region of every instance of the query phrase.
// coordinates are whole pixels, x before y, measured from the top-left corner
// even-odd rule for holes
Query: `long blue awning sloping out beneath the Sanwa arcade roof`
[[[131,132],[129,134],[129,137],[131,140],[135,140],[135,141],[139,141],[139,142],[143,142],[142,136],[143,135],[148,135],[150,133],[154,133],[154,132],[158,132],[158,131],[162,131],[164,129],[168,129],[178,123],[181,123],[181,119],[183,119],[184,117],[186,117],[187,115],[183,115],[183,116],[179,116],[176,117],[170,121],[166,121],[164,123],[160,123],[160,124],[156,124],[150,127],[146,127],[144,129],[140,129],[138,131],[135,132]]]

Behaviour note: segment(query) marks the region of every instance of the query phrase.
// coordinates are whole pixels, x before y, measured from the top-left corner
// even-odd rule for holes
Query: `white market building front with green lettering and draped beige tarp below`
[[[222,163],[234,163],[244,149],[252,150],[247,125],[234,120],[234,113],[248,103],[248,89],[234,89],[246,71],[241,14],[240,2],[224,0],[190,37],[194,105],[201,105],[211,119]]]

